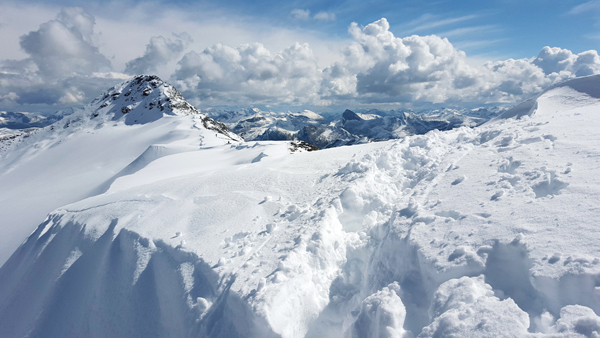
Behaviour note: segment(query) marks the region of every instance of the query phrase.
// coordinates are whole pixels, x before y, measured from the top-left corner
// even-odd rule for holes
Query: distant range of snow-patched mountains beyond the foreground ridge
[[[239,111],[208,110],[209,116],[225,123],[246,141],[301,140],[319,148],[361,144],[425,134],[430,130],[450,130],[478,126],[502,112],[490,109],[441,109],[422,112],[346,110],[331,120],[305,110],[265,112],[258,108]]]

